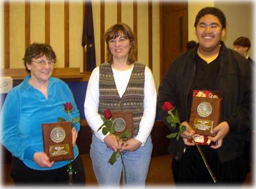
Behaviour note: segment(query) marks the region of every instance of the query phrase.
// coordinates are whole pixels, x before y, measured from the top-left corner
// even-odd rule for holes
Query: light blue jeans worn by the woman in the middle
[[[145,187],[148,166],[150,165],[153,145],[151,136],[148,137],[144,146],[140,146],[136,151],[124,151],[122,157],[126,169],[126,180],[123,185]],[[112,166],[108,163],[113,150],[106,147],[94,134],[92,138],[90,155],[93,163],[93,170],[99,186],[119,187],[121,172],[123,171],[121,157]]]

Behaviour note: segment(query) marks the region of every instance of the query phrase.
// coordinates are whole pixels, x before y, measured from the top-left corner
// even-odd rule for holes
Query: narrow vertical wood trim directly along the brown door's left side
[[[160,33],[160,44],[159,44],[159,51],[160,51],[160,82],[163,78],[163,3],[159,3],[159,33]]]

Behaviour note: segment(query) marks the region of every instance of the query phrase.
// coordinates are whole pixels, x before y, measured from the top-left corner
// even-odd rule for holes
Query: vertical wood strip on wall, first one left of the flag
[[[69,68],[69,0],[64,3],[65,68]]]

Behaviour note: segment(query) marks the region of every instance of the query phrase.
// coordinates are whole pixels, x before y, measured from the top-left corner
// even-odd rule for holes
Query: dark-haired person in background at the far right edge
[[[254,61],[249,57],[251,42],[247,37],[239,37],[233,42],[234,50],[244,56],[252,65]]]

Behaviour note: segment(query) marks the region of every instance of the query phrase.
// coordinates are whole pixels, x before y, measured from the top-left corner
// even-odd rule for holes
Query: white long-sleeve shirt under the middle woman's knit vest
[[[129,70],[119,71],[112,67],[116,88],[120,97],[125,92],[129,83],[133,67]],[[156,87],[154,78],[150,68],[145,67],[145,84],[144,84],[144,111],[139,125],[138,135],[135,137],[138,141],[145,144],[148,136],[151,133],[152,127],[155,123],[156,117]],[[93,130],[95,136],[102,142],[106,136],[103,136],[101,130],[97,132],[98,128],[103,124],[101,116],[98,114],[99,106],[99,67],[96,67],[89,79],[86,99],[84,101],[84,115],[86,120]]]

